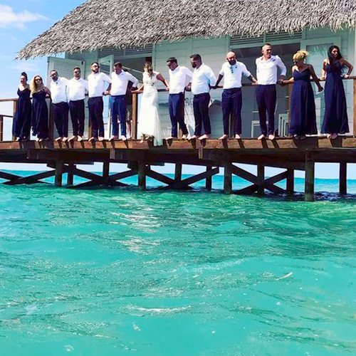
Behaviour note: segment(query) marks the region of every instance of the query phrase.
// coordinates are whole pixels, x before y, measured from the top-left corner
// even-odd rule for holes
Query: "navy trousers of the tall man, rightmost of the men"
[[[260,117],[261,133],[274,135],[274,111],[276,110],[276,85],[257,85],[256,100]],[[266,125],[266,111],[268,114],[268,131]]]

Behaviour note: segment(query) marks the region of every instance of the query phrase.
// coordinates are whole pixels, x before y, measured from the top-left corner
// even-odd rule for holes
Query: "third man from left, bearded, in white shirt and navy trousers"
[[[108,95],[110,90],[111,78],[105,73],[99,72],[99,63],[94,62],[90,66],[91,74],[88,75],[88,109],[89,119],[92,125],[92,137],[89,141],[104,140],[104,121],[103,121],[103,95]],[[105,83],[109,84],[109,88],[105,90]]]

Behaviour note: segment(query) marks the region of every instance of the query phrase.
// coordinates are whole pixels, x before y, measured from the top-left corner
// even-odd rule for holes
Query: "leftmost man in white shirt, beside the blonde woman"
[[[68,98],[66,78],[59,78],[57,70],[51,70],[51,99],[54,122],[56,123],[58,137],[56,141],[68,140]]]

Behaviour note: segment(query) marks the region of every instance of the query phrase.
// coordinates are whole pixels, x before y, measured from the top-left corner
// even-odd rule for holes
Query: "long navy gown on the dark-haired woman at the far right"
[[[325,70],[325,114],[321,132],[329,134],[349,132],[345,90],[341,79],[342,65],[340,62],[333,66],[327,64]]]

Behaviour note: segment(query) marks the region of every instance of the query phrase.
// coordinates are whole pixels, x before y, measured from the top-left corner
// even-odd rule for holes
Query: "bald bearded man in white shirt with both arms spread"
[[[218,80],[216,80],[215,88],[219,85],[222,78],[224,78],[224,91],[222,93],[221,107],[223,112],[224,135],[219,140],[226,140],[229,137],[229,118],[234,112],[234,123],[232,130],[236,140],[241,138],[241,108],[242,108],[242,93],[241,93],[241,79],[245,75],[253,83],[256,79],[247,70],[244,63],[236,61],[236,54],[229,52],[226,54],[226,61],[221,67]],[[231,117],[231,122],[233,119]]]

